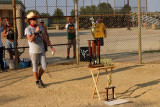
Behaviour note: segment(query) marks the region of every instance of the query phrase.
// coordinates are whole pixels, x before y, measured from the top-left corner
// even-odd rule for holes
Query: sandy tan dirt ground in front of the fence
[[[1,107],[107,107],[105,93],[101,101],[92,99],[93,80],[88,63],[48,65],[42,77],[46,87],[35,85],[31,68],[0,73]],[[160,64],[115,63],[112,84],[116,98],[130,103],[117,107],[160,106]],[[96,71],[94,72],[96,74]],[[101,71],[98,89],[105,91],[106,73]]]

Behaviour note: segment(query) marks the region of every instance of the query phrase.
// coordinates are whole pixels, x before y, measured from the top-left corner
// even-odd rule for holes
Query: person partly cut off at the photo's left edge
[[[4,27],[4,23],[2,22],[1,17],[0,17],[0,23]],[[0,64],[1,64],[1,72],[5,72],[4,62],[3,62],[3,51],[4,51],[4,48],[3,48],[2,41],[1,41],[1,32],[3,32],[3,30],[4,30],[3,27],[0,27]]]

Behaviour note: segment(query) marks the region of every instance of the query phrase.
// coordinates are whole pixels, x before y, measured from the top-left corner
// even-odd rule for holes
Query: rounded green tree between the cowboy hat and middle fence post
[[[54,14],[53,16],[55,16],[53,18],[53,22],[60,22],[60,21],[63,21],[65,18],[63,17],[64,16],[64,13],[63,11],[60,9],[60,8],[57,8],[55,11],[54,11]]]

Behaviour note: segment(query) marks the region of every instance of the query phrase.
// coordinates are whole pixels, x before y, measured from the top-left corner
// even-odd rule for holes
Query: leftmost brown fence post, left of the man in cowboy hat
[[[17,27],[16,27],[16,2],[12,0],[13,5],[13,26],[14,26],[14,42],[15,42],[15,65],[16,69],[18,69],[18,52],[17,52]]]

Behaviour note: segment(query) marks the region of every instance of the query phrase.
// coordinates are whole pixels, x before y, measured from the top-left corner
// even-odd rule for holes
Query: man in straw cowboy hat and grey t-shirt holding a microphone
[[[46,69],[46,55],[44,49],[43,40],[47,42],[52,51],[55,49],[51,46],[43,28],[37,25],[37,18],[39,16],[36,13],[30,12],[25,20],[29,23],[29,26],[25,29],[25,35],[27,36],[29,43],[29,54],[32,61],[33,76],[36,81],[38,88],[43,88],[42,75]],[[41,66],[38,72],[38,61],[40,60]]]

